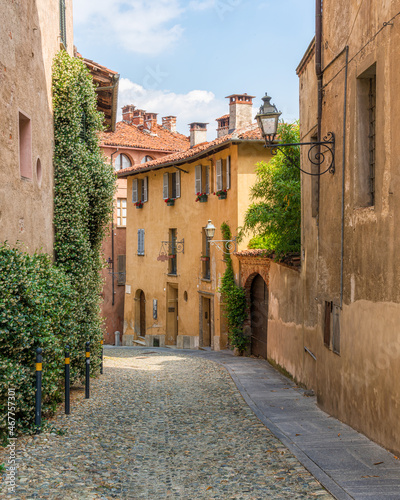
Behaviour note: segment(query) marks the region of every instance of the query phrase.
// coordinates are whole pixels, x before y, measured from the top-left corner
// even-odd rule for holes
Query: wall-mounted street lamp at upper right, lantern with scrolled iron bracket
[[[328,132],[320,142],[297,142],[289,144],[276,144],[274,139],[278,130],[279,117],[281,113],[277,110],[275,104],[271,104],[271,97],[267,94],[262,98],[263,104],[260,107],[259,113],[256,115],[256,120],[258,126],[261,129],[261,134],[265,140],[265,145],[267,148],[271,149],[271,154],[276,155],[278,151],[281,151],[286,158],[292,163],[293,166],[301,170],[307,175],[323,175],[326,172],[331,174],[335,173],[335,135],[333,132]],[[323,172],[312,173],[306,172],[302,168],[298,167],[290,155],[285,153],[286,147],[293,146],[310,146],[308,150],[308,159],[313,165],[318,167],[327,168]],[[330,160],[330,162],[329,162]],[[325,163],[326,162],[326,163]]]

